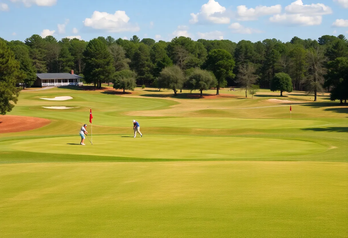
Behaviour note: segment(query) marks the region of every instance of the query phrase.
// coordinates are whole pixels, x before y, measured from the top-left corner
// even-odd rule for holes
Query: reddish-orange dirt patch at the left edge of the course
[[[46,126],[50,122],[37,117],[0,116],[0,133],[24,132]]]

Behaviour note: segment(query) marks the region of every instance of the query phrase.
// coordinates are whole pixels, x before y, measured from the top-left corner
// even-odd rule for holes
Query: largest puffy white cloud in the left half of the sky
[[[115,14],[94,11],[91,18],[85,19],[84,24],[108,32],[139,31],[139,26],[129,23],[129,19],[125,11],[116,11]]]

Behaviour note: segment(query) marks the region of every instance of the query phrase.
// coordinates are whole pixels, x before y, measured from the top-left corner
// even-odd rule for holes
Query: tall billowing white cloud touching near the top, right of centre
[[[223,7],[215,0],[209,0],[207,3],[203,4],[200,8],[199,13],[191,13],[192,19],[191,24],[198,22],[210,22],[215,24],[228,24],[230,23],[230,18],[224,16],[226,13],[226,7]]]

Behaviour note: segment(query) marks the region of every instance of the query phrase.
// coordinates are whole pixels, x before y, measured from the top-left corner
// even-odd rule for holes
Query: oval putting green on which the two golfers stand
[[[246,137],[146,135],[133,138],[97,135],[93,146],[76,144],[79,137],[23,140],[11,149],[59,154],[84,154],[155,159],[258,159],[298,156],[326,150],[325,146],[297,140]],[[156,145],[156,146],[153,146]]]

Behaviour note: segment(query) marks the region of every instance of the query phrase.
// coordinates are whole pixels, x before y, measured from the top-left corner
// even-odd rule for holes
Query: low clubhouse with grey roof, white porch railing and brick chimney
[[[37,73],[36,77],[36,87],[83,85],[82,77],[74,74],[73,70],[71,73]]]

